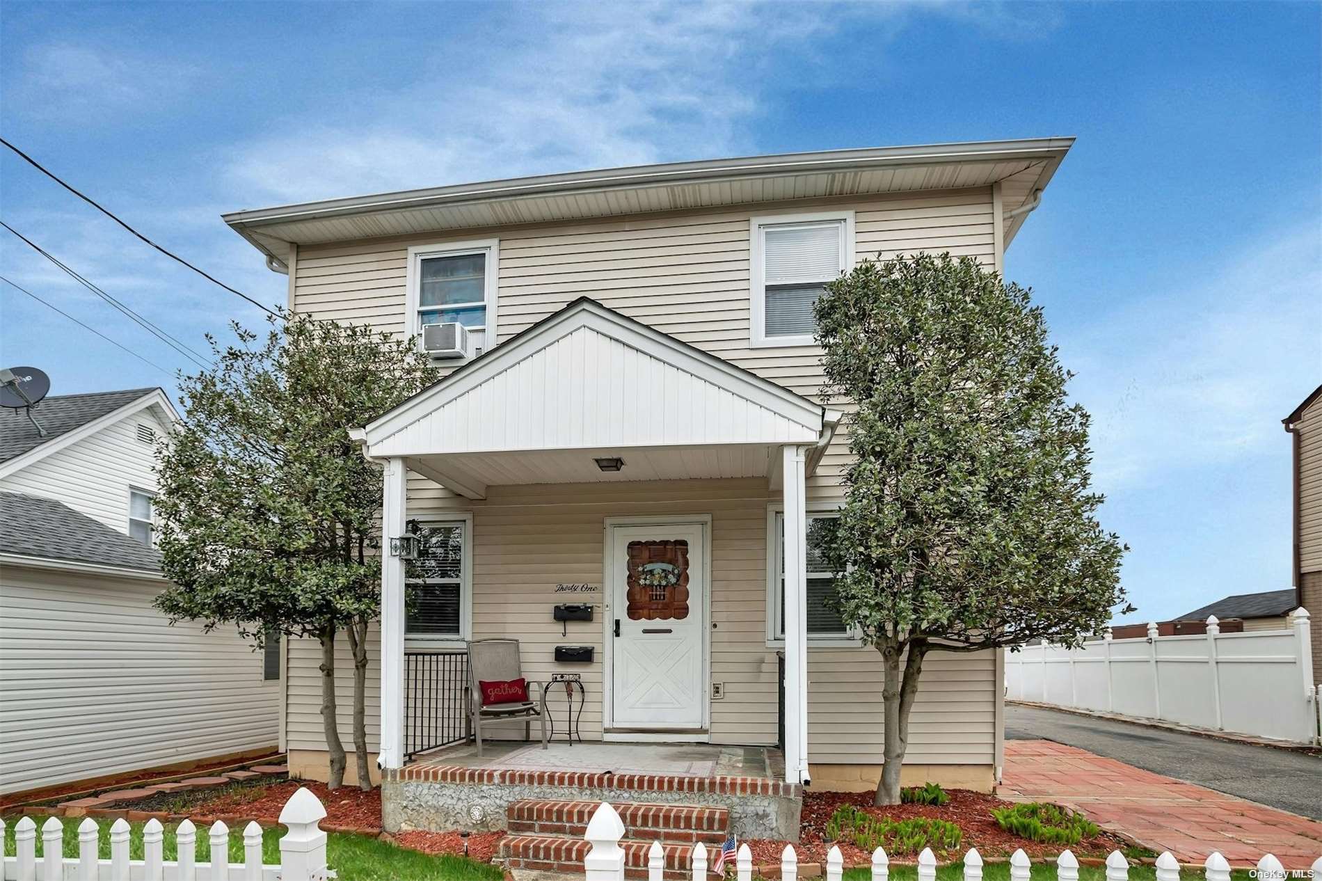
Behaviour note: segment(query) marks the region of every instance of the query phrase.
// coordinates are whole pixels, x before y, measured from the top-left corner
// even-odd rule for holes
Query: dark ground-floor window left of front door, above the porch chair
[[[468,524],[424,523],[418,528],[418,556],[407,561],[405,635],[465,639],[468,597]]]

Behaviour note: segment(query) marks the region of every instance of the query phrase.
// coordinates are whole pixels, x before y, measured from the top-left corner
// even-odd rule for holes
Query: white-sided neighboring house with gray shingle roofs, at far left
[[[270,753],[279,653],[169,626],[152,549],[160,389],[0,410],[0,798]]]

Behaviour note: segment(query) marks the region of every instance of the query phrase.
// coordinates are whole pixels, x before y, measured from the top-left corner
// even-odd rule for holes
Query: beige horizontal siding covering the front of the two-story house
[[[299,249],[292,302],[296,311],[317,317],[403,333],[408,246],[498,237],[500,340],[587,295],[820,399],[822,373],[816,347],[750,345],[750,220],[754,214],[821,210],[824,205],[855,212],[854,251],[859,261],[949,251],[995,266],[988,187],[311,245]],[[809,505],[839,501],[847,462],[847,437],[841,431],[809,479]],[[765,644],[765,480],[683,483],[490,487],[485,501],[469,503],[415,476],[408,484],[410,516],[473,512],[473,636],[518,636],[529,675],[545,677],[561,668],[550,660],[557,643],[595,646],[600,657],[600,623],[571,623],[568,638],[562,638],[550,614],[558,598],[549,591],[557,582],[602,583],[605,517],[710,513],[717,624],[711,675],[726,687],[724,698],[711,702],[711,737],[723,743],[771,743],[776,738],[777,669],[775,650]],[[600,603],[600,597],[592,602]],[[323,749],[316,663],[315,646],[291,646],[291,749]],[[600,661],[563,669],[583,673],[588,688],[583,734],[599,735]],[[992,763],[994,679],[993,652],[933,656],[914,710],[911,761]],[[867,648],[812,650],[809,681],[809,758],[879,761],[879,655]],[[375,708],[377,684],[371,680],[369,689],[369,705]],[[348,691],[341,691],[341,718],[346,718],[346,698]],[[375,724],[373,718],[369,725],[373,737]]]

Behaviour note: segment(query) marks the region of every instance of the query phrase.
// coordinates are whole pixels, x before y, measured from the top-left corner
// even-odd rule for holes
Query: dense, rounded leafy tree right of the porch
[[[832,605],[882,653],[875,803],[896,804],[928,652],[1080,643],[1124,602],[1126,548],[1095,517],[1088,414],[1030,291],[902,257],[865,261],[814,312],[824,394],[850,405]]]

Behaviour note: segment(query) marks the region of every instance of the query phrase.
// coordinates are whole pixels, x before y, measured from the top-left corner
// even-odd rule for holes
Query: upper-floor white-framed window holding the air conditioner
[[[468,328],[475,355],[496,339],[498,243],[451,242],[408,249],[410,333],[427,324],[455,321]]]

